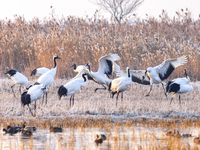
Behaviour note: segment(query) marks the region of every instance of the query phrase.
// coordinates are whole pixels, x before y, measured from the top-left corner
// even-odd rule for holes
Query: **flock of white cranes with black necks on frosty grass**
[[[54,77],[57,71],[57,59],[61,59],[58,56],[53,57],[54,67],[48,69],[45,67],[36,68],[31,72],[31,76],[39,76],[34,84],[28,86],[28,79],[23,74],[16,70],[9,70],[6,74],[14,81],[14,85],[11,86],[12,92],[15,96],[13,87],[16,84],[21,86],[24,85],[25,92],[21,94],[22,106],[27,105],[32,116],[36,115],[36,101],[46,96],[47,104],[47,94],[48,89],[54,82]],[[136,82],[143,85],[150,85],[150,90],[146,96],[150,95],[152,91],[153,84],[162,84],[164,94],[167,97],[167,93],[173,92],[170,104],[176,94],[179,95],[179,102],[181,103],[180,95],[188,94],[193,90],[192,85],[189,85],[190,78],[187,75],[186,69],[184,69],[185,78],[177,78],[167,83],[166,88],[164,87],[163,81],[167,79],[175,68],[187,63],[187,57],[181,56],[178,58],[167,59],[163,61],[160,65],[155,67],[148,67],[146,70],[130,70],[127,67],[126,70],[121,70],[119,65],[115,62],[120,60],[118,54],[109,54],[103,56],[99,59],[99,68],[97,72],[90,70],[90,64],[79,65],[73,64],[74,72],[77,75],[72,78],[68,83],[61,85],[58,89],[58,97],[61,99],[64,96],[71,95],[70,97],[70,107],[74,105],[74,95],[82,87],[86,86],[88,80],[93,80],[95,83],[101,85],[101,88],[95,88],[94,92],[97,90],[108,89],[110,97],[113,98],[116,94],[116,106],[118,101],[119,93],[121,93],[121,99],[123,100],[123,92],[126,91],[132,82]],[[148,80],[145,80],[147,76]],[[29,104],[35,102],[35,114],[32,113]],[[72,104],[71,104],[72,103]]]

